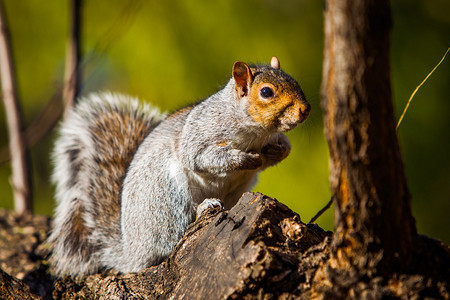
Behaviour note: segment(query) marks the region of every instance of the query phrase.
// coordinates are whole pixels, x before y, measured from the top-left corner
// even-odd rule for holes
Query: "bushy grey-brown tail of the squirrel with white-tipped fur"
[[[49,241],[57,275],[80,276],[105,267],[105,252],[120,243],[126,170],[163,117],[136,99],[107,93],[80,99],[68,113],[53,153],[57,207]]]

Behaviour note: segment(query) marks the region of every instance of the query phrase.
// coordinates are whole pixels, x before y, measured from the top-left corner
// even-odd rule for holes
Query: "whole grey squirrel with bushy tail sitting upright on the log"
[[[260,171],[288,156],[283,132],[310,109],[276,57],[235,62],[223,89],[170,115],[125,95],[81,98],[53,152],[55,275],[160,263],[196,216],[231,208]]]

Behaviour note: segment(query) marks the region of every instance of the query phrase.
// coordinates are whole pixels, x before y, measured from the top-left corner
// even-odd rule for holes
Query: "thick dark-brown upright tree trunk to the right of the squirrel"
[[[322,109],[337,202],[327,268],[342,274],[406,271],[414,254],[392,106],[391,26],[388,0],[326,2]],[[331,284],[338,280],[323,271]]]

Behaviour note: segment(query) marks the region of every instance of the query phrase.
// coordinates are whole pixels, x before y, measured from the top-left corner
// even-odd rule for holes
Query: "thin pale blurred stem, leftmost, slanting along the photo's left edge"
[[[14,206],[20,214],[31,213],[32,187],[29,157],[3,0],[0,0],[0,77],[10,139]]]

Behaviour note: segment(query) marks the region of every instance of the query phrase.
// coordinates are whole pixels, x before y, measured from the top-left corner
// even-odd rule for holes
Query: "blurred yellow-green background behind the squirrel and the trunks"
[[[60,89],[68,1],[5,0],[27,124]],[[82,94],[112,90],[174,110],[216,92],[234,61],[276,55],[307,95],[312,114],[290,132],[293,150],[260,176],[256,191],[303,221],[330,198],[320,82],[324,1],[85,1]],[[139,5],[135,5],[138,3]],[[450,46],[450,1],[392,1],[392,82],[396,118]],[[419,90],[399,128],[420,233],[450,243],[450,58]],[[6,146],[3,106],[0,145]],[[55,133],[32,149],[35,212],[52,214],[49,153]],[[0,168],[0,206],[12,207],[10,167]],[[318,219],[333,229],[333,210]]]

